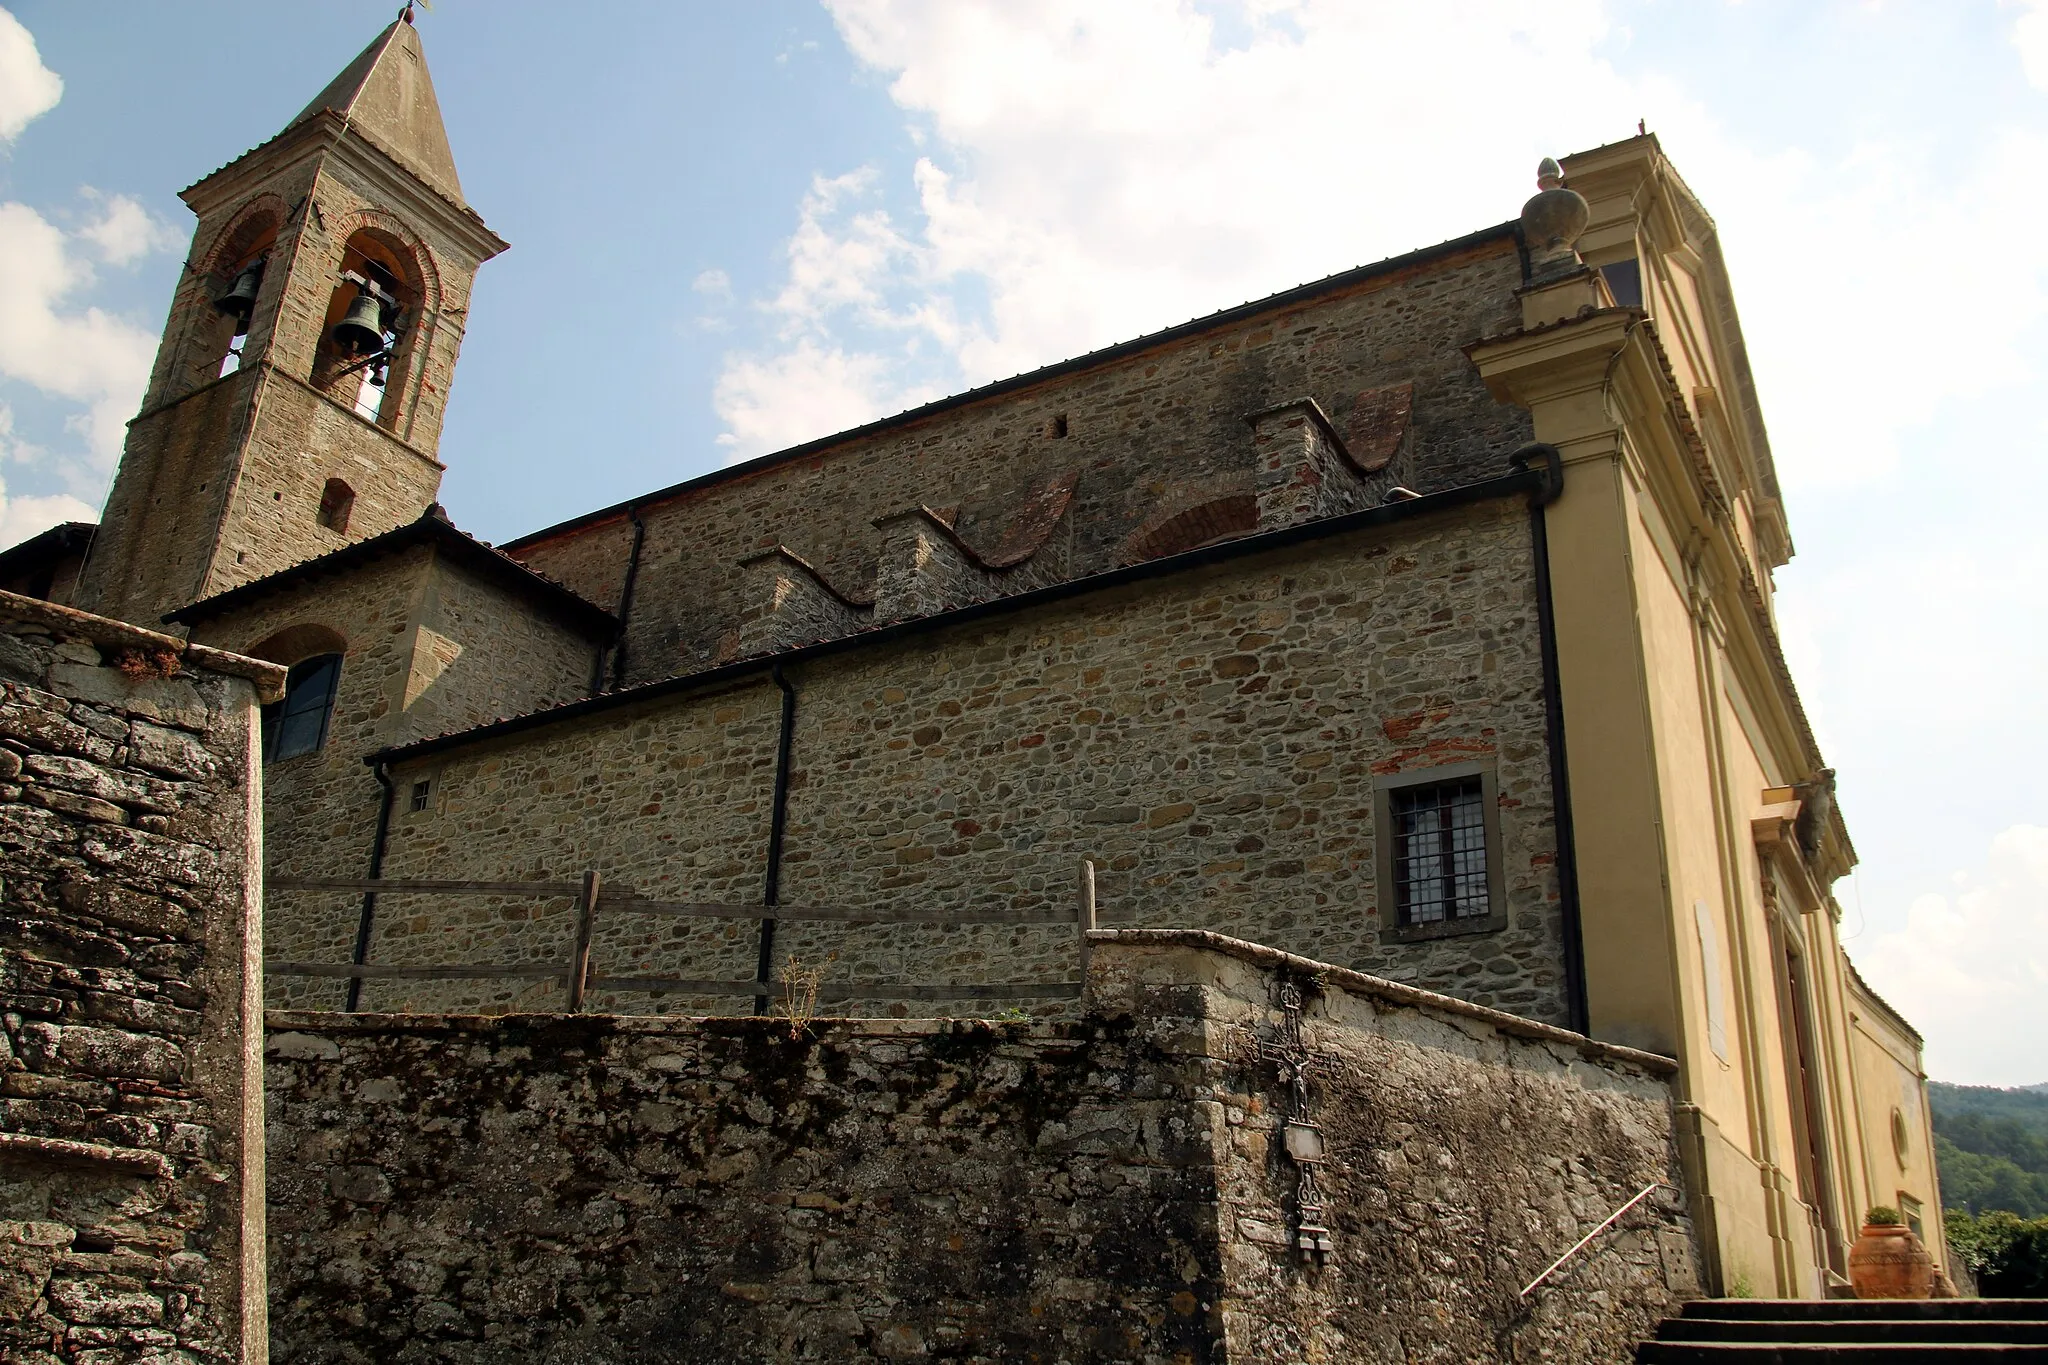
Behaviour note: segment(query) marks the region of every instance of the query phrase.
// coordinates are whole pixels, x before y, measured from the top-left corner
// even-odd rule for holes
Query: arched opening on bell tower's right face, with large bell
[[[313,385],[365,422],[393,426],[424,295],[414,248],[377,227],[348,237],[319,327]]]

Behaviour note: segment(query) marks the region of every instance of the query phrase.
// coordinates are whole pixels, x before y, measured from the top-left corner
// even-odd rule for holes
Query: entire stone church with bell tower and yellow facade
[[[289,669],[274,1009],[1061,1019],[1081,896],[1669,1058],[1714,1293],[1839,1291],[1872,1205],[1944,1257],[1735,293],[1655,137],[506,544],[438,503],[506,241],[410,14],[182,199],[102,520],[0,587]]]

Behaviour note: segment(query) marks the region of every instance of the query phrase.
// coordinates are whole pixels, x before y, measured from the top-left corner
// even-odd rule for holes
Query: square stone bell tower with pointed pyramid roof
[[[76,604],[164,612],[420,516],[477,266],[408,10],[199,217]]]

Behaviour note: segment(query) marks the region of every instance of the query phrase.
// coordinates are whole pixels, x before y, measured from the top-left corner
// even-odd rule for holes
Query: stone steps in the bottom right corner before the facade
[[[1698,1300],[1636,1361],[2048,1361],[2048,1300]]]

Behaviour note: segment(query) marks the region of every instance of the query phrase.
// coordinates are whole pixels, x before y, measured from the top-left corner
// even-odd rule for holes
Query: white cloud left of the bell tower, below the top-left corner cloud
[[[84,403],[74,426],[104,469],[150,379],[156,336],[98,307],[68,307],[92,266],[35,209],[0,203],[0,377]]]

